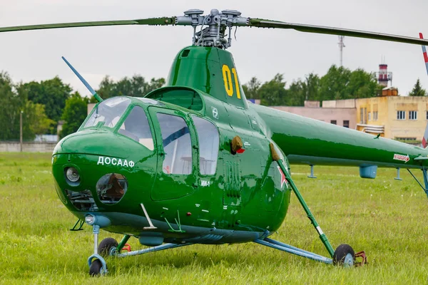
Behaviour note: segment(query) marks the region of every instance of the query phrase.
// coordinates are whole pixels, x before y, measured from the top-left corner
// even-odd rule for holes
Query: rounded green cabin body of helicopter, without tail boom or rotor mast
[[[157,92],[198,95],[203,110],[122,98],[119,104],[128,105],[113,106],[126,110],[111,126],[92,120],[104,116],[103,106],[118,98],[100,103],[81,130],[54,150],[56,190],[66,207],[80,219],[88,213],[107,217],[111,222],[106,230],[139,237],[146,244],[246,242],[280,227],[290,190],[272,161],[272,141],[251,116],[240,110],[233,125],[228,122],[236,108],[200,90],[172,87]],[[150,144],[148,138],[136,140],[126,133],[132,132],[127,121],[136,108],[146,114]],[[237,135],[243,140],[241,153],[231,150],[230,141]],[[68,180],[69,167],[80,175],[77,184]],[[116,176],[112,179],[111,174]],[[122,186],[115,192],[111,188],[116,179]],[[143,229],[148,219],[156,229]]]

